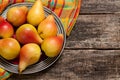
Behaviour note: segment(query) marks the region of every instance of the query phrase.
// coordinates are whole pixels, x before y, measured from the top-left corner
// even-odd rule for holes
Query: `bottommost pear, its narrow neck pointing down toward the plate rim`
[[[28,66],[37,63],[41,54],[39,45],[35,43],[25,44],[20,50],[19,72],[21,73]]]

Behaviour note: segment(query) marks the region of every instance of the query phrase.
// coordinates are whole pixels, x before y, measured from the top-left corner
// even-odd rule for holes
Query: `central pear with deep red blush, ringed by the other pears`
[[[16,31],[16,39],[21,44],[37,43],[41,44],[42,39],[40,38],[36,28],[31,24],[23,24]]]

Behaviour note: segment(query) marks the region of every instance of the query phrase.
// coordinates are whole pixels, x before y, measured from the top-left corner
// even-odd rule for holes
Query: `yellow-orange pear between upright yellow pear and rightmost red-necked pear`
[[[43,39],[56,36],[57,32],[57,25],[53,15],[48,15],[47,18],[38,25],[38,33]]]

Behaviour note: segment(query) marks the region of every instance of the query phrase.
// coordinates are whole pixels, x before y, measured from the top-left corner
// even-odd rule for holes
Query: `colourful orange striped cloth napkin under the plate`
[[[10,4],[20,2],[34,2],[35,0],[0,0],[0,14]],[[54,11],[69,36],[79,15],[81,0],[41,0],[43,5]],[[0,68],[0,80],[7,79],[11,73]]]

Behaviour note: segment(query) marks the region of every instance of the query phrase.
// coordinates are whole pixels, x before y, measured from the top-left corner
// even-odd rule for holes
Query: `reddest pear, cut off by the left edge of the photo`
[[[9,38],[14,34],[13,26],[6,20],[0,19],[0,38]]]

